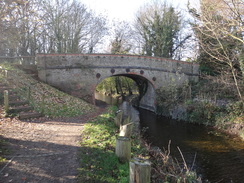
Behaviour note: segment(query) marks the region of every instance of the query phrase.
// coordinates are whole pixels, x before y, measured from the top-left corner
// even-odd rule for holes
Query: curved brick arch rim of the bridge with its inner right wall
[[[99,78],[96,86],[93,89],[93,103],[95,104],[95,90],[99,83],[109,77],[124,76],[135,81],[139,90],[139,106],[140,108],[147,109],[150,111],[156,111],[156,88],[153,82],[142,74],[137,73],[117,73],[113,75],[107,75]]]

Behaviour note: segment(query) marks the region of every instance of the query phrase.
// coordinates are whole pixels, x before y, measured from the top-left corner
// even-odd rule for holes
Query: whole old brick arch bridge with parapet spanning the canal
[[[39,78],[71,95],[95,102],[96,86],[107,77],[126,76],[139,88],[139,106],[156,111],[156,89],[198,81],[194,63],[138,55],[39,54]]]

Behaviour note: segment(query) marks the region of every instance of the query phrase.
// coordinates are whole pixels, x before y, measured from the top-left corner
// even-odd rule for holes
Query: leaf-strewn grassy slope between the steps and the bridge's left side
[[[73,117],[86,114],[95,110],[95,107],[82,99],[68,95],[50,85],[33,79],[22,70],[5,63],[1,67],[8,70],[8,78],[4,72],[1,77],[22,99],[27,99],[32,107],[49,117]],[[8,82],[11,80],[11,82]],[[27,96],[29,94],[29,96]]]

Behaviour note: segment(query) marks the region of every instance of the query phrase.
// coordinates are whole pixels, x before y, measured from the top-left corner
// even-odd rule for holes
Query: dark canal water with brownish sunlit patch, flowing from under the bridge
[[[179,147],[188,167],[196,170],[203,182],[244,183],[244,142],[237,137],[147,110],[139,109],[138,113],[133,109],[130,113],[139,114],[140,129],[152,146],[167,149],[170,141],[171,155],[181,161]]]

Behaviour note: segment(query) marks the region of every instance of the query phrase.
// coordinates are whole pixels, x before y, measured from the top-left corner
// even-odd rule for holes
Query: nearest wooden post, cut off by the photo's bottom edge
[[[130,183],[150,183],[151,163],[148,160],[133,158],[130,161]]]

